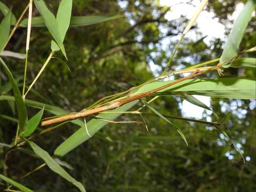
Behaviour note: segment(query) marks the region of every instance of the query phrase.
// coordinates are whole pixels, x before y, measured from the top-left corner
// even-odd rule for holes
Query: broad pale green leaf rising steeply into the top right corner
[[[220,63],[228,62],[226,65],[222,67],[228,68],[230,67],[230,61],[234,59],[237,55],[239,45],[242,41],[244,31],[251,20],[252,12],[255,10],[256,2],[254,0],[249,0],[244,6],[244,9],[238,15],[237,19],[234,22],[233,28],[230,32],[228,40],[224,46]]]

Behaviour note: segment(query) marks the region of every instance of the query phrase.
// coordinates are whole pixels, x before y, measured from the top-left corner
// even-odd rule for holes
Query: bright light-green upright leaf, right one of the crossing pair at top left
[[[59,31],[60,31],[60,38],[61,41],[64,41],[65,35],[69,28],[70,18],[71,18],[71,11],[72,11],[72,0],[62,0],[60,2],[60,6],[57,12],[56,21],[58,23]],[[52,41],[51,43],[52,51],[59,51],[59,46]]]

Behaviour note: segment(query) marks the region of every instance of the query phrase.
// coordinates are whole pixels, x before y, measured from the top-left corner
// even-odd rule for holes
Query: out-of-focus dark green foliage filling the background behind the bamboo
[[[12,12],[20,15],[26,3],[2,1],[12,6]],[[46,1],[56,13],[59,1]],[[207,9],[226,26],[230,33],[233,21],[228,15],[234,12],[236,4],[246,1],[210,1]],[[120,6],[125,4],[126,6]],[[69,111],[79,111],[106,95],[119,93],[137,86],[154,77],[149,68],[153,61],[161,74],[170,58],[179,33],[186,27],[187,19],[181,17],[167,21],[164,17],[169,7],[162,7],[158,1],[73,1],[72,15],[125,15],[125,17],[85,27],[71,27],[65,38],[68,67],[52,59],[39,78],[27,99],[59,106]],[[33,16],[38,15],[36,9]],[[3,15],[1,15],[2,17]],[[2,19],[2,18],[1,18]],[[131,22],[132,21],[132,22]],[[161,28],[167,28],[163,33]],[[185,38],[180,45],[172,69],[220,57],[223,49],[221,39],[213,39],[211,46],[197,26],[193,29],[199,40]],[[249,23],[240,50],[255,46],[255,17]],[[25,53],[26,28],[18,28],[6,50]],[[50,53],[51,35],[46,28],[32,28],[30,38],[27,81],[30,84],[42,63]],[[162,49],[163,39],[170,38],[169,51]],[[65,60],[61,52],[57,57]],[[187,62],[188,55],[193,59]],[[255,57],[249,53],[250,57]],[[24,60],[5,58],[16,79],[22,79]],[[8,78],[1,70],[1,86]],[[211,72],[202,77],[218,77]],[[225,77],[255,77],[255,68],[228,68]],[[21,78],[19,78],[21,77]],[[179,76],[178,76],[179,77]],[[19,81],[20,85],[22,81]],[[18,83],[18,84],[19,84]],[[9,94],[9,90],[4,94]],[[3,93],[2,93],[3,94]],[[182,116],[180,97],[164,97],[152,106],[162,114]],[[149,132],[143,124],[108,124],[81,146],[62,158],[74,170],[67,171],[80,181],[87,191],[254,191],[256,189],[255,161],[255,100],[212,98],[211,107],[223,120],[225,130],[242,151],[246,162],[231,146],[223,134],[214,127],[188,123],[173,119],[185,133],[189,146],[180,135],[157,116],[145,116]],[[137,109],[135,107],[135,109]],[[145,111],[150,111],[145,109]],[[29,108],[28,116],[38,109]],[[17,116],[12,102],[0,101],[0,114]],[[44,117],[51,116],[45,111]],[[206,111],[203,119],[215,119]],[[123,115],[117,121],[141,121],[140,116]],[[11,143],[17,124],[0,118],[0,142]],[[36,143],[49,154],[63,140],[76,131],[73,124],[37,137]],[[107,136],[106,136],[107,135]],[[29,146],[23,148],[31,151]],[[2,152],[4,146],[0,147]],[[48,167],[22,178],[26,173],[44,163],[22,150],[11,152],[1,158],[0,169],[5,175],[36,191],[77,191],[77,188],[52,174]],[[6,166],[6,167],[4,167]],[[1,189],[6,184],[1,181]]]

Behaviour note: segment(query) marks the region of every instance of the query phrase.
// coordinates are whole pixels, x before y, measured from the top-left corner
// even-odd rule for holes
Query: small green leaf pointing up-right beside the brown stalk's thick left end
[[[36,115],[34,115],[28,120],[27,130],[26,132],[21,134],[22,137],[28,137],[30,134],[32,134],[36,130],[36,128],[38,127],[42,119],[43,114],[44,114],[44,107]]]

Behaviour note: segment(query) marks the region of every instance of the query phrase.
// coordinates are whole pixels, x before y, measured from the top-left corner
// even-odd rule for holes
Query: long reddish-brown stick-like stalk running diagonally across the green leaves
[[[102,111],[111,110],[111,109],[121,107],[121,106],[125,105],[126,103],[129,103],[129,102],[132,102],[132,101],[135,101],[135,100],[138,100],[138,99],[145,98],[150,94],[153,94],[153,93],[156,93],[157,91],[165,89],[166,87],[172,86],[174,84],[180,83],[180,82],[185,81],[185,80],[190,79],[190,78],[197,77],[197,76],[205,73],[206,71],[212,70],[214,68],[218,68],[218,65],[213,66],[211,68],[207,68],[205,70],[196,71],[195,73],[192,73],[192,74],[190,74],[186,77],[182,77],[180,79],[177,79],[174,82],[163,85],[163,86],[158,87],[154,90],[151,90],[151,91],[148,91],[148,92],[145,92],[145,93],[140,93],[138,95],[134,95],[134,97],[127,97],[127,98],[125,98],[123,100],[119,100],[119,101],[118,100],[117,101],[110,101],[110,102],[106,103],[105,106],[102,106],[102,107],[97,107],[97,108],[88,109],[88,110],[84,109],[84,110],[76,112],[76,113],[70,113],[68,115],[63,115],[61,117],[56,117],[56,118],[52,118],[52,119],[49,119],[49,120],[42,121],[41,126],[47,126],[47,125],[52,125],[52,124],[56,124],[56,123],[61,123],[61,122],[65,122],[65,121],[68,121],[68,120],[77,119],[77,118],[80,118],[80,117],[86,117],[86,116],[89,116],[89,115],[100,113]]]

